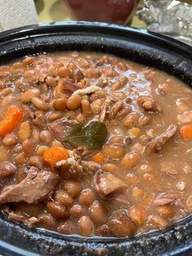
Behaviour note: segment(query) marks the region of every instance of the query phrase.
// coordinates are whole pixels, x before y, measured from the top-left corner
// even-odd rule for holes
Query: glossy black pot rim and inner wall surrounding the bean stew
[[[114,24],[67,22],[0,33],[0,63],[55,51],[99,51],[159,68],[192,85],[192,48],[181,42]],[[192,216],[166,230],[132,238],[64,236],[11,222],[1,213],[3,255],[192,254]]]

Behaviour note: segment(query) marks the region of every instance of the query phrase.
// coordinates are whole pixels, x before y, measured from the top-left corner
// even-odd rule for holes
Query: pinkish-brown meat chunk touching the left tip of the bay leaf
[[[48,129],[53,133],[56,139],[63,139],[72,130],[72,126],[76,125],[76,120],[69,120],[67,117],[62,117],[48,125]]]

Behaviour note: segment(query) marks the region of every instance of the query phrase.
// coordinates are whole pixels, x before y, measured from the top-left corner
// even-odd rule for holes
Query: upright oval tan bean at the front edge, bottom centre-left
[[[92,236],[94,234],[94,224],[87,216],[82,216],[78,221],[81,236]]]

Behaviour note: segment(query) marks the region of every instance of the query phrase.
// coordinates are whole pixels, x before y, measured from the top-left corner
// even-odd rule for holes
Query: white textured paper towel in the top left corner
[[[0,0],[0,31],[37,23],[33,0]]]

